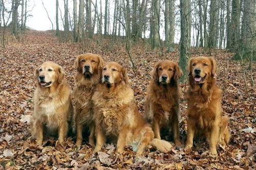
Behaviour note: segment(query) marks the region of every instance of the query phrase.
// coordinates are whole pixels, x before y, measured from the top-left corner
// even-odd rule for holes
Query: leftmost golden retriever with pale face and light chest
[[[58,141],[63,144],[71,130],[73,115],[71,88],[64,71],[56,63],[47,61],[36,69],[36,79],[32,136],[38,145],[42,145],[46,135],[57,135]]]

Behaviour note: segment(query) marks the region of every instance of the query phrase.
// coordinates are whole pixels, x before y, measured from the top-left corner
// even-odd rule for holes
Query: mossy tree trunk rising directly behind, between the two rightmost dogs
[[[190,57],[190,36],[191,36],[191,6],[190,0],[181,0],[181,51],[180,51],[180,61],[179,65],[183,71],[183,76],[181,77],[181,82],[184,82],[187,78],[187,65],[188,59]]]

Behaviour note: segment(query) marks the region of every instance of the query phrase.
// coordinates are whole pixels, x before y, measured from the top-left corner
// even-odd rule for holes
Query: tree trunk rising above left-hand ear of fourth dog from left
[[[152,0],[153,18],[152,18],[152,49],[160,47],[159,21],[160,21],[160,0]]]

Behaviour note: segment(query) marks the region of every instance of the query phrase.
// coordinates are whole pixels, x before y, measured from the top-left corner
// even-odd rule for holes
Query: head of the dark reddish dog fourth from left
[[[152,70],[153,79],[161,84],[169,84],[172,81],[177,81],[181,78],[182,74],[178,63],[170,60],[157,62]]]

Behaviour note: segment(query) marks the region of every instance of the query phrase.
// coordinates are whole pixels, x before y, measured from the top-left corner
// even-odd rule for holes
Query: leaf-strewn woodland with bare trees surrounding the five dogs
[[[29,24],[40,6],[48,31]],[[255,167],[256,0],[0,0],[0,169],[3,168],[234,168]],[[35,27],[35,25],[34,25]],[[143,100],[155,62],[179,62],[181,78],[181,139],[186,138],[187,62],[211,56],[218,63],[223,114],[230,117],[231,143],[207,155],[207,144],[195,143],[191,154],[163,154],[148,148],[136,157],[127,150],[113,154],[114,145],[92,154],[89,145],[74,151],[50,138],[44,149],[30,140],[34,69],[46,60],[63,66],[73,88],[75,56],[92,52],[128,69],[136,104]],[[172,141],[172,139],[168,139]],[[55,146],[56,145],[56,146]]]

